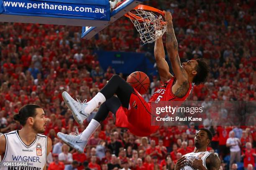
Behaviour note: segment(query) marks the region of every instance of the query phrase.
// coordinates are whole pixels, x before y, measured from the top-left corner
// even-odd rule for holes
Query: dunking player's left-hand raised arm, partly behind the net
[[[169,66],[165,60],[164,45],[162,37],[155,41],[154,56],[156,59],[156,66],[159,71],[159,76],[162,82],[166,82],[173,75],[169,72]]]

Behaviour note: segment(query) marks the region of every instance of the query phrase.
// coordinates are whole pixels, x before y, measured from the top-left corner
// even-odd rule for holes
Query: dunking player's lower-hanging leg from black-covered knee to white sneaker
[[[110,99],[106,100],[101,106],[95,117],[91,120],[87,128],[78,135],[67,135],[63,133],[57,133],[58,137],[67,143],[72,148],[78,150],[80,153],[84,152],[84,147],[87,144],[87,141],[91,135],[97,130],[100,126],[100,122],[106,119],[108,112],[111,111],[114,114],[117,112],[118,108],[121,106],[120,100],[113,96]]]

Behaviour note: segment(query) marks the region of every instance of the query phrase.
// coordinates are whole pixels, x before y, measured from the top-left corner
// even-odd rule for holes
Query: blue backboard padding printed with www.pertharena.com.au
[[[3,0],[3,7],[13,15],[110,20],[108,0]]]

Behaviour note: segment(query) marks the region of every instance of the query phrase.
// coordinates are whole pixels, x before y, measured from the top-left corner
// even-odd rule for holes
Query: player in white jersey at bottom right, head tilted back
[[[202,128],[195,134],[195,149],[180,158],[175,170],[219,170],[220,158],[207,151],[207,146],[212,140],[210,130]]]

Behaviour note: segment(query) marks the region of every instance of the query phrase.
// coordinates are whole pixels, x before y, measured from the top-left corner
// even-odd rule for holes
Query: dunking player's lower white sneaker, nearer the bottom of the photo
[[[67,135],[61,132],[57,133],[57,136],[64,142],[67,143],[69,146],[78,150],[79,153],[84,153],[84,147],[87,144],[87,141],[80,140],[80,135],[76,133],[72,133],[71,135]]]

